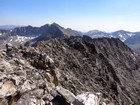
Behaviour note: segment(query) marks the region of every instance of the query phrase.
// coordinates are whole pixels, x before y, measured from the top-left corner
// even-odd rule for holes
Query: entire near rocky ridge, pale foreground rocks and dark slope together
[[[0,105],[140,105],[139,64],[139,55],[114,38],[7,44]]]

